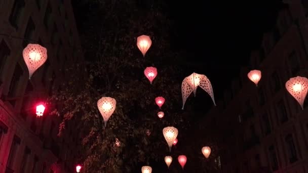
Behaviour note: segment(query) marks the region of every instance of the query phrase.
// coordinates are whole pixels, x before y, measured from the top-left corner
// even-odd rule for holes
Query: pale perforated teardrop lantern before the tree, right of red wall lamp
[[[117,101],[111,97],[102,97],[97,101],[97,107],[100,114],[103,116],[105,126],[107,125],[107,121],[115,110],[115,105]]]

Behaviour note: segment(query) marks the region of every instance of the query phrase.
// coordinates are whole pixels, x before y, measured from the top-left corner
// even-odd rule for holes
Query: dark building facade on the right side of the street
[[[250,68],[200,125],[221,132],[220,172],[308,172],[308,98],[301,110],[285,88],[291,77],[308,77],[308,2],[285,3]],[[247,77],[253,69],[262,72],[258,86]]]

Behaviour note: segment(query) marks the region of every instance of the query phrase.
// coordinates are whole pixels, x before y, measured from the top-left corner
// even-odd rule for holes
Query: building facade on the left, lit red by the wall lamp
[[[29,43],[48,51],[30,80],[22,58]],[[81,61],[70,1],[0,1],[0,173],[73,172],[78,152],[71,129],[57,137],[61,118],[36,117],[35,106],[58,90],[68,64]]]

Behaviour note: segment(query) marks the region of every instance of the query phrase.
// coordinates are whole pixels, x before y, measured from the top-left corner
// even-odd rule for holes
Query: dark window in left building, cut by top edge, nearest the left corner
[[[18,29],[18,24],[21,20],[21,16],[23,16],[24,8],[24,0],[15,0],[9,20],[11,25],[16,29]]]

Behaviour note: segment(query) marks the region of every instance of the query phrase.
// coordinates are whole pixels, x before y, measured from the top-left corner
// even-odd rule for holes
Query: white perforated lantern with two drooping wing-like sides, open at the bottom
[[[200,86],[200,88],[202,88],[211,96],[213,103],[216,106],[212,84],[210,80],[204,74],[193,73],[185,77],[182,82],[182,99],[183,99],[182,109],[184,109],[185,102],[191,93],[194,92],[194,95],[196,96],[196,91],[198,86]]]

